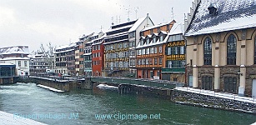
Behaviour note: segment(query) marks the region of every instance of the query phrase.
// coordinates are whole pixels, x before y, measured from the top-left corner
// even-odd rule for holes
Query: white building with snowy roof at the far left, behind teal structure
[[[0,63],[16,65],[18,76],[28,76],[29,72],[28,46],[13,46],[0,48]]]

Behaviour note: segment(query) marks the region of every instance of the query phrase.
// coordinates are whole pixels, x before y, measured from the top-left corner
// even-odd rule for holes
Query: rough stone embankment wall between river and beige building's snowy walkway
[[[210,107],[238,112],[249,112],[256,114],[256,104],[251,102],[240,102],[233,99],[213,97],[193,92],[174,90],[172,101],[198,107]],[[255,99],[256,101],[256,99]]]

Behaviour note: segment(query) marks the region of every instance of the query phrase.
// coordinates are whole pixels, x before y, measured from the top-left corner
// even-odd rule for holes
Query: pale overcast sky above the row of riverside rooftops
[[[149,17],[154,24],[183,22],[193,0],[0,0],[0,47],[78,42],[83,34],[108,31],[111,23]],[[173,7],[173,14],[172,14]],[[129,13],[128,13],[129,12]],[[137,12],[137,14],[136,14]]]

